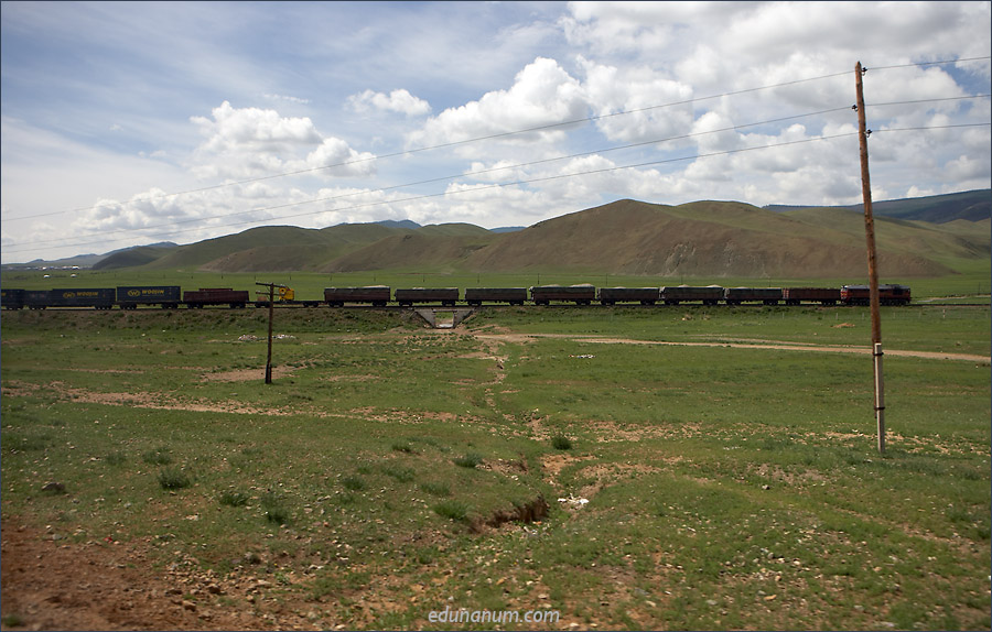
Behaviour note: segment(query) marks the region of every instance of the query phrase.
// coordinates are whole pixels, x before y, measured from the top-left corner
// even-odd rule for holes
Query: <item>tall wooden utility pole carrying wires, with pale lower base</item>
[[[869,253],[869,296],[872,310],[872,357],[875,368],[875,419],[878,425],[878,453],[885,451],[885,389],[882,380],[882,314],[878,297],[878,265],[875,258],[875,220],[872,217],[872,181],[869,176],[867,137],[864,113],[862,77],[867,68],[861,62],[854,66],[854,87],[858,92],[858,139],[861,145],[861,195],[864,198],[864,233]]]

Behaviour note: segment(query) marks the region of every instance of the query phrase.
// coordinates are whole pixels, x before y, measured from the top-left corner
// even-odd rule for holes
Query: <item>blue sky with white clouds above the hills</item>
[[[3,263],[989,188],[980,2],[0,3]]]

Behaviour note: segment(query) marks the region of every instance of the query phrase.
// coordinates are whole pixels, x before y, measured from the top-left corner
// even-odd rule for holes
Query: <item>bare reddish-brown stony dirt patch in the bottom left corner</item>
[[[8,520],[0,529],[3,630],[321,629],[263,599],[267,582],[250,575],[217,577],[191,559],[154,570],[145,540],[60,544]]]

